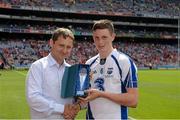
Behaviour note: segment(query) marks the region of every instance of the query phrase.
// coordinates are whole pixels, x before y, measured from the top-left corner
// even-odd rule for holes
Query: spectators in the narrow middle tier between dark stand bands
[[[61,26],[62,27],[62,26]],[[4,32],[15,32],[15,33],[43,33],[43,34],[51,34],[58,26],[56,25],[30,25],[30,24],[0,24],[0,29]],[[75,35],[90,35],[90,27],[82,28],[82,27],[73,27],[71,25],[71,29],[74,31]],[[116,29],[117,35],[120,36],[136,36],[136,37],[144,37],[144,38],[165,38],[168,36],[169,38],[176,38],[178,36],[177,32],[167,31],[166,29],[163,31],[147,31],[146,29],[138,30],[138,29]]]

